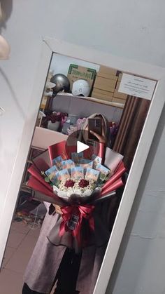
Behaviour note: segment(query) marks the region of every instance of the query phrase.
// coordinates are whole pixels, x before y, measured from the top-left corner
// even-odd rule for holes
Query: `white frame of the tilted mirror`
[[[136,62],[134,60],[119,58],[117,56],[95,51],[90,48],[68,44],[64,41],[59,41],[53,38],[44,38],[42,49],[43,50],[38,65],[36,79],[34,80],[34,89],[31,95],[31,102],[27,111],[27,119],[24,123],[22,140],[20,142],[20,147],[17,150],[15,166],[13,168],[13,173],[11,175],[10,183],[8,186],[8,194],[6,195],[6,203],[3,207],[3,213],[1,215],[2,225],[0,229],[0,262],[3,258],[3,252],[5,250],[6,241],[8,239],[8,232],[12,221],[12,215],[15,209],[17,194],[20,189],[22,174],[27,160],[29,147],[31,145],[31,139],[34,133],[36,118],[38,115],[38,108],[41,103],[52,53],[59,53],[72,58],[78,58],[80,60],[96,63],[98,65],[106,65],[108,67],[118,69],[122,72],[144,76],[148,79],[155,79],[157,81],[155,93],[152,97],[150,109],[145,119],[145,125],[141,133],[141,138],[138,142],[134,161],[132,163],[129,177],[127,179],[127,183],[124,189],[122,201],[120,203],[117,217],[113,225],[113,231],[110,235],[101,270],[99,272],[96,286],[94,288],[94,294],[105,293],[110,274],[113,270],[113,265],[115,263],[117,252],[120,248],[124,229],[127,225],[131,206],[134,202],[136,190],[138,188],[143,168],[145,166],[145,161],[150,150],[150,145],[152,143],[152,139],[157,128],[157,123],[159,121],[162,108],[164,106],[165,69],[163,69],[162,67],[155,67],[152,65],[144,64],[142,62]],[[11,203],[13,204],[12,208]]]

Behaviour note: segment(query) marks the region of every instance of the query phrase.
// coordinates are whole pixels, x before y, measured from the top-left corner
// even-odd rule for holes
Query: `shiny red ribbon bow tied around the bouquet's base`
[[[61,208],[63,221],[59,227],[59,236],[64,235],[65,232],[70,231],[73,236],[78,240],[79,245],[81,245],[81,234],[80,229],[82,225],[82,218],[89,220],[89,228],[94,230],[94,218],[92,217],[92,212],[94,211],[94,206],[65,206]],[[71,220],[72,215],[78,216],[78,222],[76,223],[75,229],[71,230],[68,227],[69,220]]]

